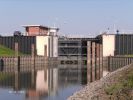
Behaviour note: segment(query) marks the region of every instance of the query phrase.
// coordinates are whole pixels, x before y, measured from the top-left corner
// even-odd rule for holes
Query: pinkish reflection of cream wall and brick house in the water
[[[48,95],[56,95],[58,88],[58,69],[44,69],[36,72],[35,88],[26,91],[26,99],[39,100]]]

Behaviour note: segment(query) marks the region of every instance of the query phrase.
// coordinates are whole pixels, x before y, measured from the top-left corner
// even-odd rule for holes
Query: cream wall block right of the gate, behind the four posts
[[[114,56],[115,51],[115,35],[105,34],[102,35],[103,42],[103,57]]]

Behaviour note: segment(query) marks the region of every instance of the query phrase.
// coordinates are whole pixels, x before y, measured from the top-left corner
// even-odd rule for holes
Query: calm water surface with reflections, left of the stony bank
[[[86,84],[81,68],[0,73],[0,100],[66,100]]]

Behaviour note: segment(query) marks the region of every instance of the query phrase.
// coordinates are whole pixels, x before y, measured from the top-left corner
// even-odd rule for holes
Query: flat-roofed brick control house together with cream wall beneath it
[[[37,55],[58,57],[58,28],[42,25],[24,25],[27,36],[36,36]]]

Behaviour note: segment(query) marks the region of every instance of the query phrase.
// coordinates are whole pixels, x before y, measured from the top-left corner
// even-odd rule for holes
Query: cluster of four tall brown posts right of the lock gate
[[[87,80],[93,82],[103,76],[102,45],[96,42],[87,42]]]

